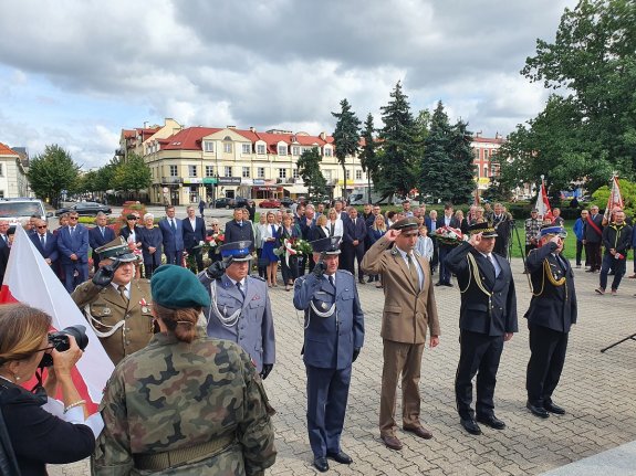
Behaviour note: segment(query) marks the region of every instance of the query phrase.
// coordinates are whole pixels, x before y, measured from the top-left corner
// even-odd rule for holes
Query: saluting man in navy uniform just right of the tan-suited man
[[[488,223],[469,228],[470,240],[446,257],[461,290],[459,310],[460,355],[455,377],[455,398],[461,426],[481,434],[477,422],[496,430],[505,423],[494,416],[494,384],[503,342],[519,330],[517,296],[507,260],[492,253],[497,233]],[[477,374],[477,419],[472,402],[472,378]],[[477,422],[476,422],[477,420]]]

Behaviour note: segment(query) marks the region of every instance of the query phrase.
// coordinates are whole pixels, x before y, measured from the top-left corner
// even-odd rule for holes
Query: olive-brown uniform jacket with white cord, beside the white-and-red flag
[[[91,281],[82,283],[71,297],[97,332],[108,332],[119,321],[125,324],[110,337],[100,337],[104,350],[117,364],[124,357],[146,347],[153,337],[150,311],[150,282],[133,279],[128,303],[112,285],[96,286]]]

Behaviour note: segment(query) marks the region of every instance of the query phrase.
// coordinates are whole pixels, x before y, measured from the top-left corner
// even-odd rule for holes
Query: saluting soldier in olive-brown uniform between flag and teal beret
[[[71,297],[117,364],[146,347],[153,337],[150,282],[134,278],[137,256],[121,236],[95,252],[100,254],[100,269]]]

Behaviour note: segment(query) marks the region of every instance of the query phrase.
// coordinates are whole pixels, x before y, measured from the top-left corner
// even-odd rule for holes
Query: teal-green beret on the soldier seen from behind
[[[159,266],[150,278],[153,303],[168,309],[208,307],[210,295],[188,268],[174,264]]]

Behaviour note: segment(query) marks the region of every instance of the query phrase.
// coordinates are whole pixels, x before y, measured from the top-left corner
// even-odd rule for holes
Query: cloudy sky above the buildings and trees
[[[347,98],[382,126],[398,81],[484,136],[539,113],[519,74],[576,0],[20,0],[0,8],[0,141],[88,169],[122,128],[333,133]]]

